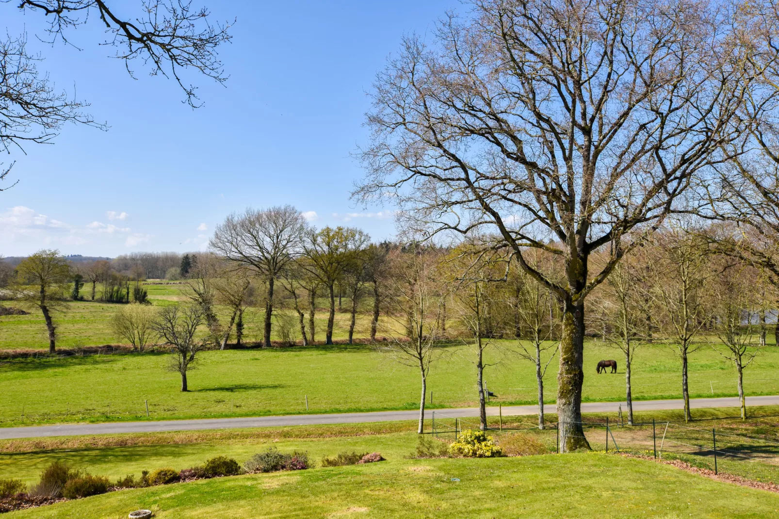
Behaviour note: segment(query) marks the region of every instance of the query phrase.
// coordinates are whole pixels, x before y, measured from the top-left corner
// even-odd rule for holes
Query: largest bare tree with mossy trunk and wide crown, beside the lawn
[[[724,161],[756,75],[738,23],[714,2],[473,0],[379,72],[368,175],[420,231],[495,234],[562,302],[561,450],[580,425],[584,301]],[[626,239],[627,235],[633,235]],[[590,255],[611,256],[590,273]],[[558,282],[524,247],[565,263]]]

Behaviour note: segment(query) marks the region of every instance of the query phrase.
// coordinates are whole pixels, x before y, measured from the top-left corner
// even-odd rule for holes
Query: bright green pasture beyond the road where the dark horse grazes
[[[492,404],[533,404],[534,367],[509,351],[513,341],[488,351],[495,365],[485,371]],[[478,401],[473,353],[466,346],[442,348],[432,366],[432,407],[474,406]],[[624,369],[596,375],[601,358],[618,358],[600,342],[585,347],[585,401],[625,397]],[[189,393],[177,373],[166,370],[167,354],[18,358],[0,362],[0,425],[44,422],[199,418],[309,412],[417,408],[419,376],[370,346],[206,351],[189,375]],[[548,370],[546,401],[555,400],[556,359]],[[779,348],[770,347],[746,370],[747,394],[779,394]],[[693,397],[736,394],[735,370],[710,348],[691,357]],[[680,397],[679,362],[667,347],[641,348],[633,366],[635,399]],[[714,390],[712,392],[712,390]],[[429,401],[428,401],[429,403]]]

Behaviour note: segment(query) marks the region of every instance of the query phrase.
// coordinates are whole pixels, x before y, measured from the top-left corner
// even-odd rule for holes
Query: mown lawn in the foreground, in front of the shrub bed
[[[123,490],[8,514],[155,517],[776,517],[779,495],[605,454],[404,460]]]

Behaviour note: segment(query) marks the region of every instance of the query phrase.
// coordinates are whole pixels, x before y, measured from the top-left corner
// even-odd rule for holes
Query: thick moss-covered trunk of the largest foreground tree
[[[584,305],[563,302],[560,369],[557,375],[557,418],[560,451],[590,449],[582,427],[582,383],[584,351]]]

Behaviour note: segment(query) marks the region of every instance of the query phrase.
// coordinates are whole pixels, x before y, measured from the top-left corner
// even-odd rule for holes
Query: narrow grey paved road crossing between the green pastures
[[[590,402],[582,404],[582,411],[616,412],[625,402]],[[777,405],[779,395],[767,397],[746,397],[747,405]],[[735,408],[738,397],[696,398],[690,401],[690,407]],[[633,411],[655,411],[661,409],[682,409],[682,400],[634,401]],[[534,405],[513,405],[503,408],[504,416],[534,415]],[[545,411],[555,412],[554,404],[545,406]],[[479,415],[478,408],[435,409],[438,416],[451,418],[472,418]],[[487,408],[490,416],[498,415],[498,408]],[[425,416],[430,418],[431,411]],[[239,427],[278,427],[284,425],[321,425],[333,423],[393,422],[395,420],[416,420],[419,411],[377,411],[370,413],[337,413],[332,415],[287,415],[259,416],[256,418],[204,418],[201,420],[160,420],[157,422],[113,422],[71,425],[37,425],[34,427],[0,428],[0,440],[15,438],[39,438],[43,436],[73,436],[83,434],[115,433],[160,433],[164,431],[198,431],[204,429],[234,429]]]

